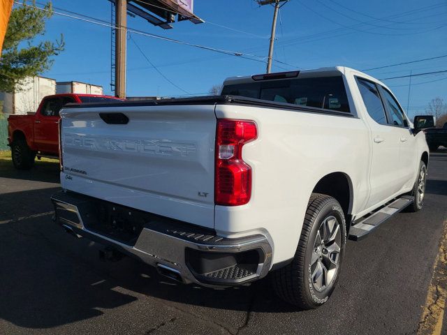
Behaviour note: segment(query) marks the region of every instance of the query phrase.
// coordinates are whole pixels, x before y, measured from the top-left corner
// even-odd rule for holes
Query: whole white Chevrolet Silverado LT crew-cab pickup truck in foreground
[[[183,283],[271,272],[328,300],[346,240],[423,206],[428,147],[381,82],[345,67],[232,77],[220,96],[61,110],[55,220]]]

